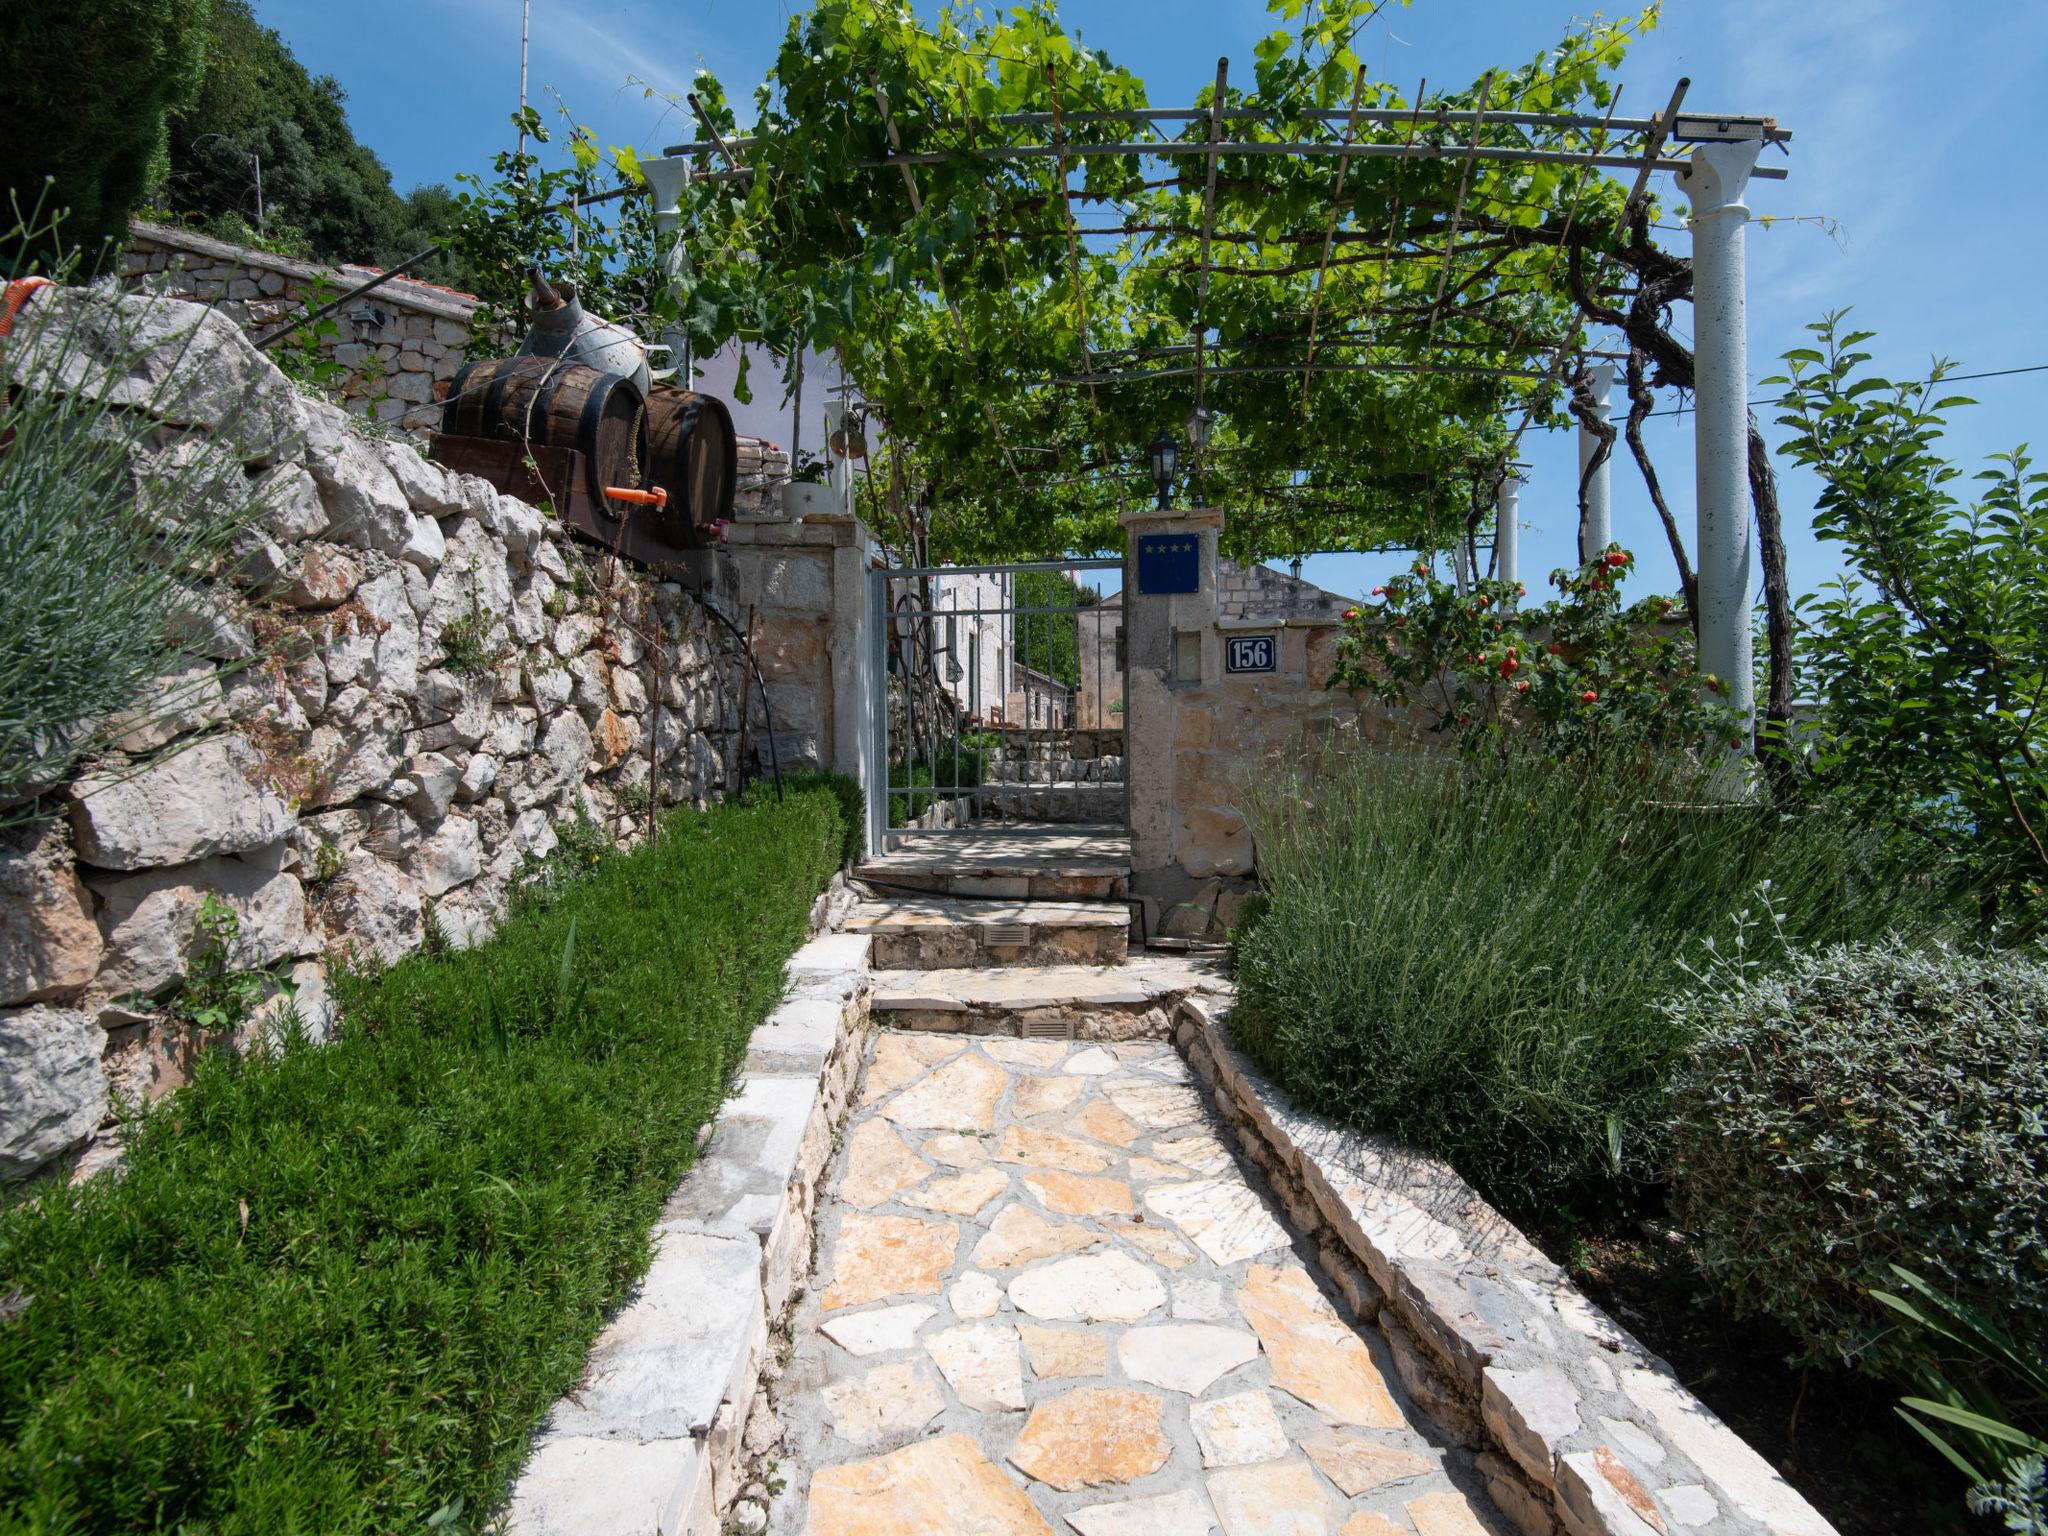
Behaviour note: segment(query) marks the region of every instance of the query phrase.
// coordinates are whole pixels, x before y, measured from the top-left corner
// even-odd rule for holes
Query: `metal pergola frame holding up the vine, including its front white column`
[[[1546,166],[1575,166],[1583,172],[1604,172],[1604,170],[1632,170],[1634,180],[1622,203],[1620,221],[1616,233],[1626,229],[1628,219],[1642,211],[1651,176],[1659,170],[1675,172],[1679,176],[1681,188],[1694,201],[1692,238],[1694,238],[1694,274],[1696,274],[1696,430],[1698,430],[1698,494],[1700,494],[1700,618],[1702,618],[1702,666],[1731,682],[1733,702],[1737,707],[1749,705],[1749,629],[1747,629],[1747,588],[1749,588],[1749,541],[1747,541],[1747,481],[1741,477],[1741,459],[1747,451],[1743,438],[1747,426],[1747,322],[1745,322],[1745,293],[1743,293],[1743,256],[1741,256],[1741,223],[1747,221],[1749,211],[1743,205],[1743,190],[1751,178],[1778,180],[1786,176],[1782,166],[1759,166],[1757,156],[1767,147],[1784,150],[1792,133],[1778,125],[1774,117],[1757,115],[1722,115],[1722,113],[1686,113],[1683,102],[1690,90],[1690,80],[1679,80],[1671,90],[1671,96],[1661,113],[1651,117],[1620,117],[1620,92],[1616,86],[1610,96],[1608,111],[1604,115],[1593,113],[1538,113],[1522,111],[1516,102],[1495,106],[1493,88],[1495,76],[1489,74],[1479,86],[1479,100],[1473,106],[1450,106],[1450,104],[1427,104],[1427,80],[1415,92],[1415,102],[1407,109],[1397,106],[1364,106],[1364,70],[1360,68],[1354,78],[1352,100],[1346,109],[1315,109],[1315,111],[1288,111],[1288,113],[1268,113],[1245,106],[1229,106],[1229,59],[1217,61],[1217,80],[1208,106],[1163,106],[1163,109],[1128,109],[1128,111],[1061,111],[1059,104],[1059,80],[1057,74],[1049,72],[1053,84],[1053,109],[1042,113],[1010,113],[977,123],[956,123],[950,125],[956,131],[958,143],[944,150],[905,150],[903,133],[895,111],[891,109],[889,96],[881,82],[872,84],[872,98],[881,111],[883,127],[889,139],[889,154],[877,160],[858,162],[864,170],[895,168],[903,178],[903,186],[913,211],[922,209],[922,195],[918,188],[918,166],[954,164],[961,160],[973,162],[1044,162],[1053,168],[1057,184],[1047,188],[1047,199],[1057,197],[1061,205],[1059,213],[1059,238],[1065,242],[1065,258],[1073,279],[1073,305],[1075,305],[1075,336],[1079,352],[1079,373],[1063,373],[1036,381],[1022,381],[1026,387],[1053,387],[1053,389],[1079,389],[1090,391],[1090,399],[1100,401],[1100,389],[1104,387],[1133,387],[1143,383],[1163,383],[1178,379],[1192,379],[1194,403],[1200,410],[1204,403],[1204,389],[1210,377],[1298,377],[1303,399],[1309,399],[1309,385],[1317,375],[1454,375],[1454,377],[1493,377],[1493,379],[1516,379],[1528,381],[1534,387],[1528,391],[1526,408],[1522,412],[1520,424],[1513,428],[1511,440],[1505,451],[1505,459],[1495,467],[1497,471],[1497,528],[1495,528],[1495,575],[1503,580],[1513,580],[1516,575],[1516,532],[1513,532],[1513,498],[1518,494],[1518,481],[1511,475],[1509,463],[1516,457],[1522,434],[1534,422],[1542,401],[1550,391],[1565,383],[1573,369],[1583,371],[1589,358],[1606,356],[1626,356],[1612,352],[1597,352],[1579,344],[1579,334],[1585,324],[1575,324],[1573,334],[1559,340],[1532,342],[1530,313],[1501,313],[1503,305],[1509,305],[1516,297],[1536,297],[1554,293],[1548,279],[1554,279],[1556,266],[1563,260],[1571,233],[1579,221],[1585,193],[1591,184],[1591,176],[1579,178],[1571,184],[1569,197],[1561,190],[1559,207],[1565,211],[1563,227],[1556,231],[1538,229],[1530,225],[1513,225],[1505,219],[1485,219],[1473,215],[1468,209],[1468,195],[1473,190],[1475,166],[1481,162],[1501,162],[1501,164],[1546,164]],[[723,137],[717,133],[705,109],[692,96],[690,106],[705,129],[705,137],[692,143],[680,143],[670,147],[666,154],[672,164],[682,162],[690,168],[690,176],[696,180],[729,182],[745,180],[756,174],[756,166],[750,164],[750,152],[758,152],[764,139],[758,137]],[[948,125],[938,125],[946,129]],[[1110,129],[1130,129],[1130,133],[1114,135],[1106,143],[1075,141],[1073,131],[1077,127],[1110,127]],[[1260,129],[1266,135],[1260,135]],[[1323,129],[1321,137],[1313,131]],[[1489,131],[1495,129],[1516,129],[1524,131],[1524,137],[1548,141],[1542,143],[1489,143]],[[1149,137],[1137,137],[1139,133],[1149,133]],[[1006,143],[989,143],[987,135],[1008,135]],[[981,137],[981,141],[977,141]],[[1673,145],[1692,145],[1690,156],[1669,154]],[[723,170],[702,168],[711,156],[723,160]],[[1147,225],[1139,219],[1126,217],[1114,225],[1100,225],[1081,229],[1075,219],[1075,201],[1096,201],[1110,203],[1112,207],[1124,207],[1114,195],[1090,195],[1083,188],[1073,186],[1073,166],[1090,158],[1108,156],[1135,156],[1139,160],[1157,160],[1165,164],[1186,162],[1188,158],[1200,160],[1200,188],[1202,188],[1202,211],[1200,223],[1190,229]],[[1329,199],[1327,219],[1319,219],[1319,229],[1286,236],[1237,236],[1237,231],[1217,229],[1217,186],[1219,168],[1229,160],[1270,160],[1270,158],[1333,158],[1337,162],[1337,190]],[[1397,162],[1446,162],[1460,168],[1456,197],[1450,203],[1448,215],[1442,223],[1432,225],[1421,231],[1430,240],[1417,238],[1415,231],[1401,229],[1401,215],[1405,207],[1401,203],[1401,190],[1397,186],[1393,201],[1393,217],[1389,219],[1386,236],[1376,244],[1372,231],[1368,229],[1341,229],[1346,207],[1341,201],[1341,186],[1348,168],[1362,160],[1397,160]],[[1176,176],[1165,182],[1147,180],[1145,186],[1171,184],[1180,180],[1186,184],[1192,178]],[[1569,207],[1565,207],[1569,203]],[[1475,233],[1477,238],[1466,238],[1460,244],[1460,236],[1466,233],[1475,221],[1483,223]],[[1516,231],[1522,231],[1518,242]],[[1733,236],[1731,236],[1733,231]],[[1194,262],[1194,315],[1190,324],[1190,342],[1186,346],[1159,346],[1159,348],[1102,348],[1100,334],[1092,334],[1090,317],[1085,307],[1085,281],[1081,274],[1081,240],[1098,238],[1198,238],[1198,256]],[[1442,242],[1436,244],[1434,236],[1442,233]],[[1001,231],[995,231],[1001,238]],[[1221,240],[1219,240],[1221,236]],[[987,238],[987,231],[977,231],[977,238]],[[1282,268],[1219,268],[1214,262],[1214,248],[1219,244],[1294,244],[1298,248],[1319,246],[1319,258],[1311,266],[1282,266]],[[1587,274],[1587,291],[1591,293],[1612,293],[1602,287],[1602,270],[1608,260],[1608,252],[1593,242],[1583,242],[1591,250],[1591,272]],[[1378,293],[1374,301],[1366,307],[1364,315],[1352,317],[1331,317],[1325,313],[1325,281],[1331,266],[1339,260],[1337,248],[1343,248],[1343,262],[1378,262]],[[1468,289],[1475,285],[1485,285],[1487,276],[1497,268],[1503,254],[1513,254],[1516,250],[1530,246],[1548,246],[1552,252],[1550,266],[1546,270],[1546,283],[1526,289],[1487,289],[1477,287],[1479,297],[1460,303]],[[1475,270],[1468,270],[1456,283],[1454,272],[1468,262],[1460,258],[1479,256]],[[1434,293],[1423,305],[1403,305],[1397,313],[1399,324],[1389,326],[1391,315],[1384,307],[1386,295],[1386,270],[1399,260],[1436,260],[1438,281]],[[1188,270],[1188,268],[1182,268]],[[1225,270],[1231,276],[1300,276],[1309,270],[1315,272],[1315,285],[1305,311],[1305,336],[1303,354],[1298,358],[1286,360],[1210,360],[1212,352],[1225,352],[1235,358],[1237,352],[1247,352],[1266,346],[1286,346],[1294,338],[1229,338],[1212,336],[1208,303],[1210,303],[1210,279]],[[958,305],[950,293],[944,291],[944,279],[940,279],[940,299],[944,301],[954,332],[961,336],[963,344],[967,340],[965,326],[961,319]],[[1491,330],[1505,336],[1499,344],[1495,340],[1468,340],[1462,336],[1446,336],[1440,340],[1438,332],[1446,317],[1454,317],[1456,326],[1477,324],[1481,330]],[[1321,336],[1323,326],[1329,324],[1337,330],[1335,336]],[[1362,330],[1358,330],[1362,326]],[[1419,330],[1419,344],[1413,332]],[[1364,356],[1346,356],[1356,348],[1364,348]],[[1393,356],[1374,356],[1374,350],[1391,352]],[[1513,362],[1520,356],[1536,354],[1548,356],[1544,367],[1487,367],[1470,358],[1460,358],[1460,352],[1497,352],[1505,360]],[[1335,354],[1335,356],[1331,356]],[[1438,360],[1438,358],[1444,360]],[[1188,362],[1167,362],[1167,358],[1192,358]],[[1114,365],[1108,365],[1114,360]],[[1163,365],[1163,367],[1130,367],[1130,365]],[[1108,367],[1106,367],[1108,365]],[[1010,473],[1020,485],[1026,483],[1024,471],[1018,465],[1018,449],[1014,449],[1004,434],[1001,420],[993,412],[987,399],[981,401],[983,414],[995,436],[1004,461]],[[1585,428],[1581,426],[1581,432]],[[1202,467],[1202,449],[1196,444],[1196,453],[1190,459],[1190,471],[1198,473]],[[1288,475],[1286,469],[1276,467],[1278,473]],[[1303,473],[1303,471],[1294,471]],[[1468,553],[1477,553],[1475,541],[1460,541],[1460,573],[1464,573],[1462,559]]]

